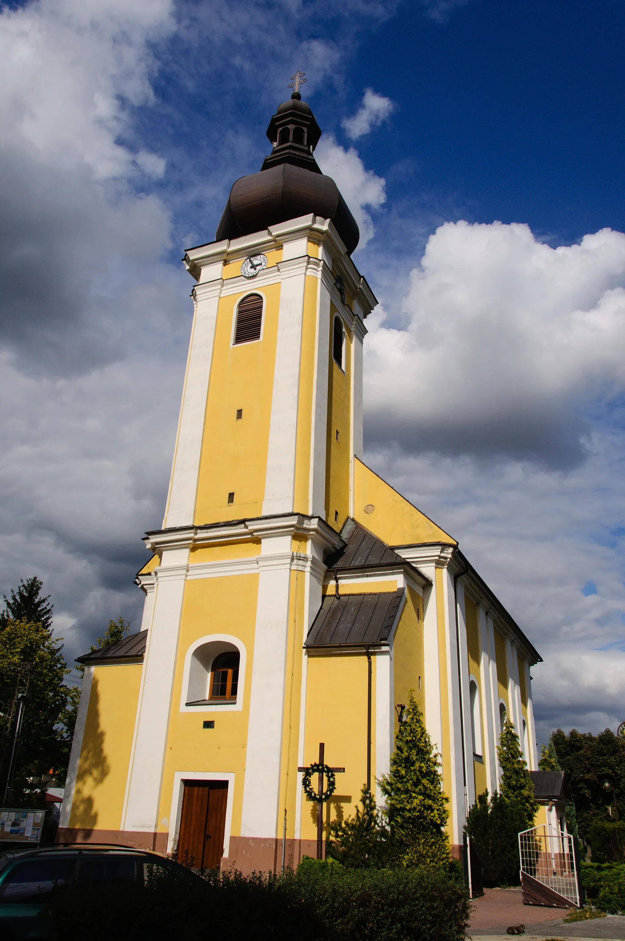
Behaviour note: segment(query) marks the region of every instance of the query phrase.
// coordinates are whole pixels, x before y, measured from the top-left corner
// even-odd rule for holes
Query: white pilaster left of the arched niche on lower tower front
[[[155,832],[157,827],[188,553],[188,547],[164,550],[161,565],[154,570],[156,596],[143,662],[124,830]]]

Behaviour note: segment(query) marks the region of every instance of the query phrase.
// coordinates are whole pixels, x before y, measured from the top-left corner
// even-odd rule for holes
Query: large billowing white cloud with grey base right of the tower
[[[624,288],[621,232],[552,248],[525,225],[446,223],[411,272],[404,328],[371,323],[370,429],[408,450],[574,463],[580,411],[625,389]]]

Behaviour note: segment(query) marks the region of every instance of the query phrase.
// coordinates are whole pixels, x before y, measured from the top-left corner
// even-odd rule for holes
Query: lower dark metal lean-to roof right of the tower
[[[305,647],[388,644],[403,588],[368,595],[327,595]]]

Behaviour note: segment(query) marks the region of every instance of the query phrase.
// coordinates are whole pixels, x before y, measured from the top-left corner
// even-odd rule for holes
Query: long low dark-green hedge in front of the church
[[[284,876],[215,873],[206,881],[76,887],[57,901],[64,941],[460,941],[464,886],[437,869],[345,869],[304,860]]]

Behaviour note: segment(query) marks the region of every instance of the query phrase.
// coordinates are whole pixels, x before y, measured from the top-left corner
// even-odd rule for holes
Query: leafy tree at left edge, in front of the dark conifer
[[[70,671],[63,659],[61,638],[55,639],[42,624],[8,619],[0,630],[0,728],[2,794],[17,722],[18,688],[24,692],[22,729],[16,752],[16,772],[8,800],[24,803],[26,795],[42,788],[42,777],[63,769],[69,741],[59,721],[67,707]],[[0,794],[0,797],[2,797]],[[32,804],[32,799],[30,799]]]

